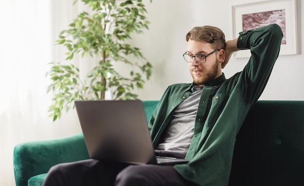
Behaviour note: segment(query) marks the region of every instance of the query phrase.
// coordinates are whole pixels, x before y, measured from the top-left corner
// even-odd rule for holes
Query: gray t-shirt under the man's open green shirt
[[[195,92],[181,102],[169,122],[157,150],[186,153],[194,133],[194,123],[203,86],[194,86]]]

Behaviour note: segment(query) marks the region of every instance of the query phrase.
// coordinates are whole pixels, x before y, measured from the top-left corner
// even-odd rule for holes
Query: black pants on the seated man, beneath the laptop
[[[94,159],[52,167],[43,186],[189,186],[173,166]]]

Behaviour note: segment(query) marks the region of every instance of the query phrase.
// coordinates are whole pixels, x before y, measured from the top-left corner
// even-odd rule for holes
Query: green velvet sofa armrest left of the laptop
[[[16,186],[27,186],[29,178],[59,163],[89,159],[82,133],[69,137],[24,142],[14,148]]]

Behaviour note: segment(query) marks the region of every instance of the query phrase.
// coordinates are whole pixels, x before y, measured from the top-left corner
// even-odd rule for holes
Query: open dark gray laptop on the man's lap
[[[155,156],[143,103],[75,101],[90,158],[130,164],[184,164],[188,160]]]

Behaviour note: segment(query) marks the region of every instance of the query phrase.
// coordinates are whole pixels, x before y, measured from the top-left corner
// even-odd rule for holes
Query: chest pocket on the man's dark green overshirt
[[[206,120],[208,127],[214,126],[229,99],[229,94],[216,94],[212,98],[211,108]]]

